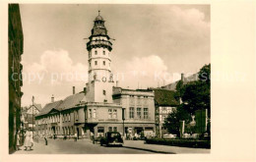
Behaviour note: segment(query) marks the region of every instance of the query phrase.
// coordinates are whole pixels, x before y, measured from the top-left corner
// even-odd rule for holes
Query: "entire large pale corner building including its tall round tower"
[[[155,135],[154,91],[114,87],[112,43],[99,13],[87,50],[89,81],[84,91],[73,90],[64,100],[46,104],[35,118],[37,135]]]

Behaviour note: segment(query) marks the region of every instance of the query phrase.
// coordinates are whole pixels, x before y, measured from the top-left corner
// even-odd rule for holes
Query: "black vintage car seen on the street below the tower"
[[[107,132],[104,137],[100,138],[100,145],[116,145],[123,146],[123,139],[120,133],[117,132]]]

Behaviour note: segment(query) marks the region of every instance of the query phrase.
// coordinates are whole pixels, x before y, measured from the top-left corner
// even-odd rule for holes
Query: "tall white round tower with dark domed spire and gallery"
[[[112,43],[104,27],[104,20],[96,17],[92,35],[87,43],[89,54],[89,82],[87,83],[87,100],[89,102],[112,102],[113,77],[111,74]]]

